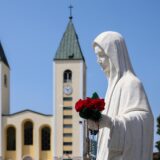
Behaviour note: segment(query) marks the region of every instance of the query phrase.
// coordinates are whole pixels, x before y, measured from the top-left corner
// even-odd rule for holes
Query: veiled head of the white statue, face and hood
[[[98,63],[107,76],[119,74],[121,77],[125,72],[132,71],[128,51],[121,34],[117,32],[103,32],[98,35],[93,43]],[[114,73],[113,73],[114,72]]]

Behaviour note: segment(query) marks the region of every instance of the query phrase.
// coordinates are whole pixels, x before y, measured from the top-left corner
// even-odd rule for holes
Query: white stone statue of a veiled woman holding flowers
[[[96,160],[152,160],[153,115],[123,37],[117,32],[103,32],[93,47],[108,77]],[[97,127],[92,120],[88,125],[90,129]]]

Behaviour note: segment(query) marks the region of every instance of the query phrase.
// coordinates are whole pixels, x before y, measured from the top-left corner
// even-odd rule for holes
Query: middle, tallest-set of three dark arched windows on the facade
[[[27,121],[24,123],[24,145],[33,144],[33,123]]]

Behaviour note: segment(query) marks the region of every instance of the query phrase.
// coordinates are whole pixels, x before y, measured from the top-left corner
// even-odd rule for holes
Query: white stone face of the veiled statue
[[[100,47],[95,46],[94,49],[97,56],[97,62],[101,65],[104,72],[106,72],[109,75],[110,65],[108,56],[104,53],[104,51]]]

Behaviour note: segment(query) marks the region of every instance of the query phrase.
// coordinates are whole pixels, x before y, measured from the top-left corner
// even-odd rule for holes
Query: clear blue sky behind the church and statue
[[[66,29],[69,0],[0,0],[0,40],[11,67],[11,112],[52,107],[52,61]],[[160,114],[160,1],[75,0],[73,23],[87,64],[87,96],[104,97],[107,79],[96,62],[94,38],[120,32],[154,117]],[[158,139],[155,136],[155,139]]]

